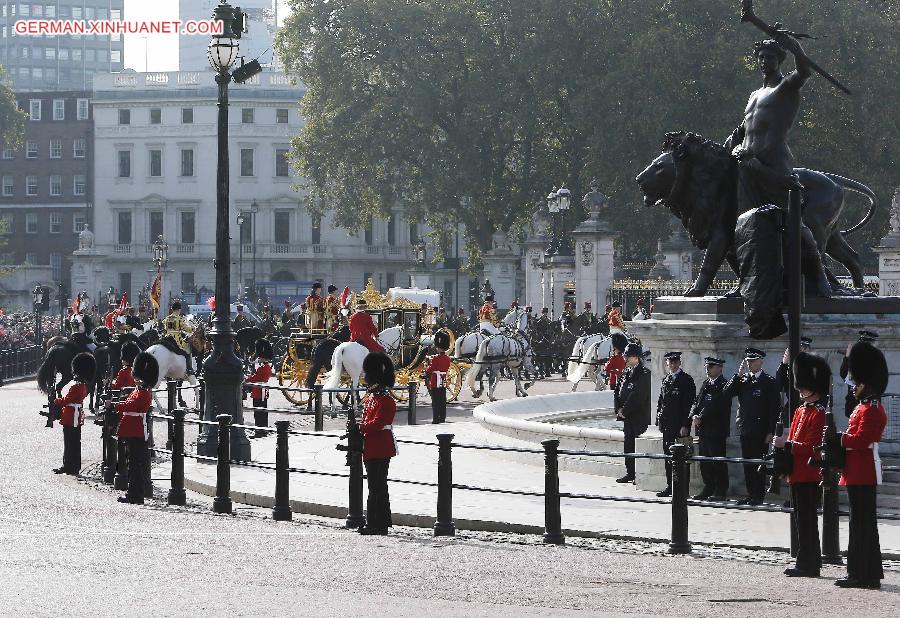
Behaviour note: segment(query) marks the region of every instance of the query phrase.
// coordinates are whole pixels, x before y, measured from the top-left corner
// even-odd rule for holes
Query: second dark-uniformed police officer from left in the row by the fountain
[[[659,389],[656,426],[663,435],[663,451],[668,453],[679,437],[690,434],[691,407],[697,396],[697,385],[694,378],[681,369],[681,352],[668,352],[665,359],[669,375],[663,378]],[[656,495],[660,498],[672,495],[672,462],[669,460],[666,460],[666,488]]]

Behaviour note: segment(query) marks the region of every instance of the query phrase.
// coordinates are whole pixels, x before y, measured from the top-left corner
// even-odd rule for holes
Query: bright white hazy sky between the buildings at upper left
[[[240,6],[240,0],[232,5]],[[287,14],[285,0],[278,2],[278,21]],[[178,0],[125,0],[128,21],[178,19]],[[146,66],[145,66],[146,61]],[[154,34],[125,35],[125,68],[135,71],[177,71],[178,36]]]

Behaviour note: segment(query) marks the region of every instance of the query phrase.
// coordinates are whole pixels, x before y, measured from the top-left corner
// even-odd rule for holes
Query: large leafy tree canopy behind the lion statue
[[[810,80],[789,138],[797,166],[861,180],[884,203],[900,138],[897,4],[757,4],[769,22],[827,35],[805,48],[855,92]],[[291,6],[278,46],[307,87],[293,156],[309,207],[333,210],[351,229],[402,202],[438,236],[467,223],[484,248],[494,229],[530,220],[553,186],[564,181],[580,196],[596,177],[623,257],[650,255],[666,219],[640,205],[634,176],[666,131],[723,140],[760,84],[749,52],[762,33],[740,23],[737,0]],[[848,202],[848,221],[858,220],[867,204]],[[870,245],[886,224],[882,208],[853,240]]]

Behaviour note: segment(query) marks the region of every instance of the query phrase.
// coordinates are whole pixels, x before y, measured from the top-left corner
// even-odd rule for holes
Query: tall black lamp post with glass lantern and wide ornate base
[[[234,332],[231,330],[231,246],[229,238],[228,202],[228,84],[253,77],[261,69],[259,63],[241,65],[230,72],[238,57],[238,39],[245,31],[246,16],[240,9],[227,2],[220,3],[213,12],[213,19],[222,22],[222,34],[212,37],[209,43],[209,63],[216,71],[219,87],[218,114],[218,164],[216,172],[216,309],[210,336],[212,353],[203,364],[206,379],[205,420],[215,420],[220,414],[231,415],[232,422],[242,424],[244,413],[241,405],[243,373],[241,360],[234,353]],[[255,67],[253,66],[255,64]],[[210,429],[212,428],[212,429]],[[197,452],[215,456],[218,450],[218,427],[204,425],[197,439]],[[243,429],[231,428],[231,456],[238,461],[250,459],[250,441]]]

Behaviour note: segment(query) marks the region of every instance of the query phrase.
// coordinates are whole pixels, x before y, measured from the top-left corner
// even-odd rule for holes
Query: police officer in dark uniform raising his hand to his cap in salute
[[[766,353],[747,348],[738,372],[725,385],[725,396],[738,398],[737,426],[741,436],[741,457],[762,459],[775,435],[781,408],[781,393],[775,378],[762,370]],[[744,372],[744,367],[747,372]],[[766,495],[765,472],[758,464],[744,464],[747,497],[738,504],[762,504]]]

